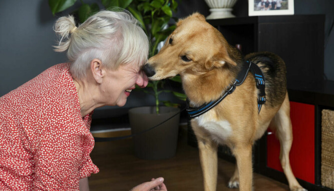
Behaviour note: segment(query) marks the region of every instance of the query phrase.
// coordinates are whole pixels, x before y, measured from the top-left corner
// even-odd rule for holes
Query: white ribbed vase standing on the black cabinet
[[[232,8],[237,0],[205,0],[211,14],[206,19],[223,19],[235,17]]]

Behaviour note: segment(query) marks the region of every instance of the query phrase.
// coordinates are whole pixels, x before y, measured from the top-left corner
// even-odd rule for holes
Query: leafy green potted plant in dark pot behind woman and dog
[[[56,14],[72,7],[76,2],[77,0],[49,0],[49,5],[52,13]],[[80,2],[82,5],[74,13],[81,23],[100,10],[97,3],[89,5],[85,4],[82,0]],[[101,3],[106,10],[113,7],[126,9],[141,23],[150,42],[149,56],[157,54],[159,43],[163,42],[175,29],[175,25],[168,26],[171,19],[175,20],[172,17],[172,12],[175,12],[178,6],[175,0],[101,0]],[[170,80],[181,83],[179,76]],[[147,88],[137,88],[153,95],[155,106],[138,107],[129,110],[132,134],[155,126],[180,111],[177,108],[177,104],[173,104],[170,101],[161,101],[159,95],[163,92],[172,93],[177,98],[185,101],[185,94],[162,89],[164,83],[165,81],[162,80],[151,81]],[[162,104],[169,107],[161,106]],[[135,136],[136,156],[145,159],[163,159],[174,156],[177,145],[179,119],[180,115],[175,116],[159,127],[140,136]]]

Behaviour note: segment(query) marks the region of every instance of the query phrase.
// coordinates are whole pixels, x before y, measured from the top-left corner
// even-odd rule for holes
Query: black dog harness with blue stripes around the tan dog
[[[217,99],[216,101],[211,101],[209,103],[205,103],[199,107],[190,107],[189,100],[187,99],[187,112],[190,118],[195,118],[203,113],[209,111],[218,103],[220,103],[227,95],[233,93],[236,86],[240,86],[246,79],[248,72],[251,72],[256,81],[256,88],[259,90],[257,95],[257,107],[258,113],[260,113],[262,104],[265,103],[265,79],[261,69],[254,63],[250,61],[244,62],[241,71],[239,72],[237,78],[233,82],[232,85],[228,88],[226,92],[223,92],[223,95]]]

